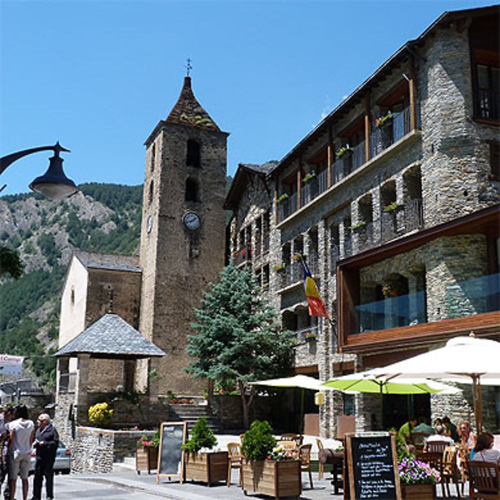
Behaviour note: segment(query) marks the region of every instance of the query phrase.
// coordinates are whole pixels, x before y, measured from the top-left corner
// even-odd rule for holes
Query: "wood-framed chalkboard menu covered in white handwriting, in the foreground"
[[[400,500],[393,434],[347,435],[346,451],[351,498]]]

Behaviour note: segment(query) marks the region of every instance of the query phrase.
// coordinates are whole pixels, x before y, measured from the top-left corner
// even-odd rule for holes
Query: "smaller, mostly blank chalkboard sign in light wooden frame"
[[[186,436],[186,422],[161,422],[156,484],[160,476],[179,478],[182,482],[184,459],[181,445]]]

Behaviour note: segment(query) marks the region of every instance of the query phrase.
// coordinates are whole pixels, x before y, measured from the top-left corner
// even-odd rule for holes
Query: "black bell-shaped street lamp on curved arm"
[[[29,188],[43,194],[47,198],[52,199],[63,198],[64,196],[74,194],[78,191],[78,188],[71,179],[68,179],[64,175],[64,172],[62,171],[62,162],[64,160],[59,156],[60,151],[69,152],[69,149],[62,147],[58,141],[53,146],[32,147],[31,149],[24,149],[22,151],[8,154],[7,156],[3,156],[0,158],[0,174],[15,160],[22,158],[27,154],[47,150],[54,151],[54,155],[49,158],[50,163],[47,171],[43,175],[36,177],[29,184]]]

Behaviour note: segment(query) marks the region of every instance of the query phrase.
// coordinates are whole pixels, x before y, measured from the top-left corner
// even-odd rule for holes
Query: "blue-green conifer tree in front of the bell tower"
[[[187,346],[194,360],[186,371],[221,384],[235,380],[247,428],[255,395],[255,387],[248,382],[286,372],[291,333],[279,327],[276,313],[259,295],[255,277],[232,264],[224,267],[195,313],[197,322],[191,326],[196,333],[188,335]]]

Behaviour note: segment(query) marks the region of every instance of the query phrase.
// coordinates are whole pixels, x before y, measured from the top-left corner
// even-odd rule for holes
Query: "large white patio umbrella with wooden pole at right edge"
[[[391,378],[428,377],[472,383],[477,431],[482,431],[481,381],[500,378],[500,342],[486,338],[454,337],[444,347],[375,368],[376,376]]]

